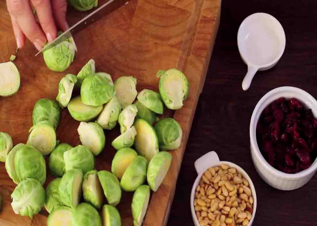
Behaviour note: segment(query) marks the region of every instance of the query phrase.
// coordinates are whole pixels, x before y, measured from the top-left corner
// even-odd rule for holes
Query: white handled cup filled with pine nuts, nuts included
[[[195,226],[250,226],[256,214],[256,191],[249,175],[216,152],[195,161],[197,178],[191,189]]]

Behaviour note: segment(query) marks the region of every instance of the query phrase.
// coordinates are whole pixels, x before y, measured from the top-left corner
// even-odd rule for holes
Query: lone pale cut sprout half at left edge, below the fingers
[[[0,63],[0,96],[9,97],[20,88],[20,73],[11,61]]]

